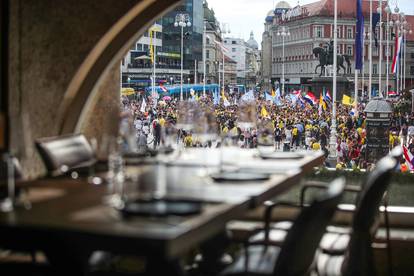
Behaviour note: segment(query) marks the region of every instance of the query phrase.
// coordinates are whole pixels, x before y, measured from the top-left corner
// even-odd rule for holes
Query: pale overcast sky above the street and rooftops
[[[286,0],[291,6],[296,6],[297,0]],[[299,4],[315,2],[317,0],[300,0]],[[355,1],[355,0],[338,0]],[[227,23],[232,37],[249,39],[250,31],[253,31],[259,47],[264,30],[264,19],[267,13],[279,1],[273,0],[207,0],[210,8],[214,9],[220,23]],[[406,14],[414,14],[413,0],[391,0],[392,7],[398,3],[400,10]],[[411,5],[410,5],[411,4]]]

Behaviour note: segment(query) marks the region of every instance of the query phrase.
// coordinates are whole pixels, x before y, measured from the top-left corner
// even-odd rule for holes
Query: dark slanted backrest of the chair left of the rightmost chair
[[[326,232],[345,186],[344,178],[337,178],[329,188],[302,209],[282,244],[274,275],[305,275],[313,263],[316,249]]]

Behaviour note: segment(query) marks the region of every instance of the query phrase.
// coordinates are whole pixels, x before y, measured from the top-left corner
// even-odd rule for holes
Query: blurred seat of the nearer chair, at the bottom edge
[[[272,275],[279,255],[280,248],[276,246],[252,245],[247,248],[249,255],[248,269],[246,271],[246,252],[242,250],[240,258],[227,267],[221,275]]]

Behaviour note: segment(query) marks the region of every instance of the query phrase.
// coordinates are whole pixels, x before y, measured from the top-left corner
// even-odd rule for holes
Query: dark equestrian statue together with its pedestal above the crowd
[[[325,47],[313,48],[313,54],[319,58],[319,64],[315,67],[315,74],[320,68],[320,74],[317,77],[312,78],[311,86],[312,92],[316,97],[319,97],[323,91],[330,91],[332,95],[332,73],[333,73],[333,41],[325,45]],[[337,93],[336,100],[342,99],[343,94],[350,96],[353,92],[353,82],[348,80],[344,75],[346,74],[347,67],[351,66],[351,57],[349,55],[337,55]],[[347,67],[345,67],[346,63]],[[343,75],[341,75],[341,69]]]

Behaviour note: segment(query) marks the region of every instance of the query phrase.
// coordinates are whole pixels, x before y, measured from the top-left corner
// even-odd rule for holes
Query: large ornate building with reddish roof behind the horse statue
[[[374,4],[374,10],[377,9],[378,3]],[[368,64],[369,64],[369,1],[363,1],[363,14],[365,20],[364,34],[364,69],[363,78],[359,76],[358,89],[367,91],[368,86]],[[385,12],[384,12],[385,14]],[[280,2],[274,11],[273,20],[269,27],[268,21],[265,24],[264,37],[271,37],[272,49],[270,55],[272,56],[272,83],[280,83],[282,79],[282,71],[284,67],[285,72],[285,88],[302,88],[306,89],[306,86],[310,87],[310,80],[318,76],[320,71],[315,72],[315,67],[319,64],[318,58],[313,54],[312,50],[315,47],[325,47],[333,40],[333,0],[321,0],[316,1],[303,6],[296,6],[290,8],[290,6],[282,1]],[[348,55],[351,59],[351,66],[346,68],[345,72],[341,69],[340,74],[344,74],[351,81],[354,79],[354,54],[355,54],[355,27],[356,27],[356,11],[355,3],[349,1],[338,1],[338,54]],[[412,16],[407,16],[407,20],[410,22]],[[266,19],[269,19],[268,17]],[[270,29],[270,30],[269,30]],[[286,30],[286,35],[282,37],[280,33],[282,30]],[[266,33],[267,31],[267,33]],[[268,34],[269,31],[271,34]],[[377,28],[377,34],[379,37],[379,28]],[[372,87],[378,90],[379,78],[382,79],[382,86],[385,88],[386,78],[386,30],[383,28],[383,43],[381,46],[373,47],[372,50]],[[284,39],[284,43],[283,43]],[[408,40],[412,40],[412,35],[408,36]],[[394,41],[389,40],[390,52],[389,59],[392,63],[392,57],[394,53]],[[284,56],[283,56],[283,44],[284,44]],[[379,76],[379,51],[383,51],[383,63],[381,69],[381,75]],[[269,49],[265,49],[267,53],[263,55],[269,55]],[[411,49],[407,49],[410,52]],[[263,67],[265,68],[265,67]],[[407,68],[408,70],[408,68]],[[407,71],[407,73],[410,73]],[[407,74],[407,80],[412,76]],[[266,72],[266,77],[268,77]],[[395,88],[395,83],[390,81],[391,88]]]

